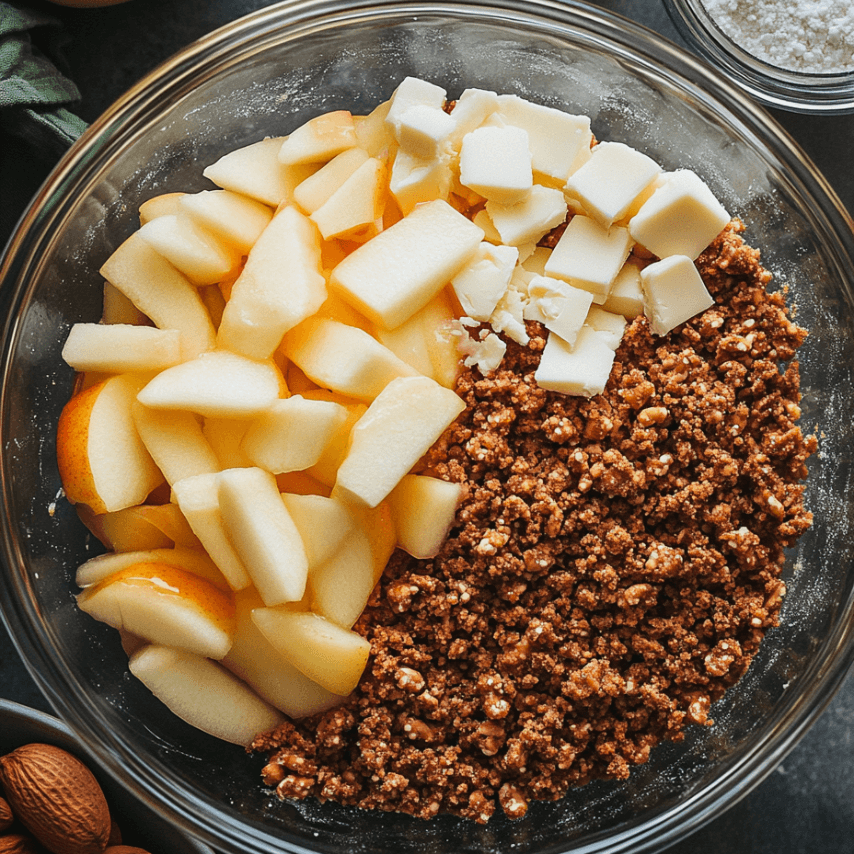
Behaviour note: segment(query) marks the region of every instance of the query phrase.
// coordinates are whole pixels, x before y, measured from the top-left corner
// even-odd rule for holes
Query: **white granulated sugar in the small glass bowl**
[[[808,74],[854,69],[852,0],[704,0],[715,23],[757,59]]]

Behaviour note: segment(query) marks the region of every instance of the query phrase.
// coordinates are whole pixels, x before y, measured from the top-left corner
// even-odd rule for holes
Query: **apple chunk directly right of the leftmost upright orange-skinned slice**
[[[132,412],[140,438],[167,483],[220,470],[199,419],[191,412],[149,409],[139,401]]]

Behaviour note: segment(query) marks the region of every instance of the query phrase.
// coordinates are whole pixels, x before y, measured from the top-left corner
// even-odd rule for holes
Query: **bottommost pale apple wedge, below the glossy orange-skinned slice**
[[[245,682],[199,655],[152,644],[137,650],[128,666],[173,714],[222,741],[247,747],[283,720]]]

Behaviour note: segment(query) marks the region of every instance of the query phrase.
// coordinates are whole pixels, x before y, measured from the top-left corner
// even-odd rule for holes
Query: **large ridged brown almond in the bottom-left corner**
[[[0,759],[0,782],[17,818],[53,854],[103,854],[110,811],[75,756],[51,744],[25,744]]]

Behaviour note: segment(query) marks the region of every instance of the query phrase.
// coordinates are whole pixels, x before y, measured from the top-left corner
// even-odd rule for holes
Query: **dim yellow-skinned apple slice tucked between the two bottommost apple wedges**
[[[252,611],[264,603],[247,588],[235,595],[234,643],[222,664],[255,690],[259,697],[291,718],[304,718],[341,705],[333,694],[296,669],[273,647],[252,621]]]

